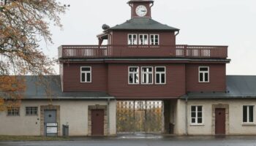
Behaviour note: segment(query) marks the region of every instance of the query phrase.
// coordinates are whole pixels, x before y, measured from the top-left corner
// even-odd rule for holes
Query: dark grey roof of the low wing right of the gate
[[[252,99],[256,98],[256,76],[227,75],[226,92],[190,92],[189,99]],[[182,99],[186,96],[181,97]]]

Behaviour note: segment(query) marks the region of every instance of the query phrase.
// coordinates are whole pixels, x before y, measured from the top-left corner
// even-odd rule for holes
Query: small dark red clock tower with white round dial
[[[151,18],[151,7],[154,4],[153,0],[130,0],[127,4],[129,4],[132,9],[132,18]]]

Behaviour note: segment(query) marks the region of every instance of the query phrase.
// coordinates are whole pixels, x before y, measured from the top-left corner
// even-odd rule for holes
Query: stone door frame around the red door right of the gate
[[[212,121],[211,121],[211,134],[215,135],[215,109],[225,109],[225,134],[230,133],[229,129],[229,105],[228,104],[213,104],[212,105]]]

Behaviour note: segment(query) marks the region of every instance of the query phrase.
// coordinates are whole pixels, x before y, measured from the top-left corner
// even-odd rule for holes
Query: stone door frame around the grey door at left
[[[57,136],[60,136],[61,128],[60,128],[60,106],[59,105],[40,106],[40,135],[45,136],[45,110],[56,110],[56,122],[58,123]]]

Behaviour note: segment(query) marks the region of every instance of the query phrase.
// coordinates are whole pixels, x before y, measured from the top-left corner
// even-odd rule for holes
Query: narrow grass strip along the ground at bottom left
[[[36,136],[5,136],[0,135],[0,141],[64,141],[69,137],[36,137]]]

